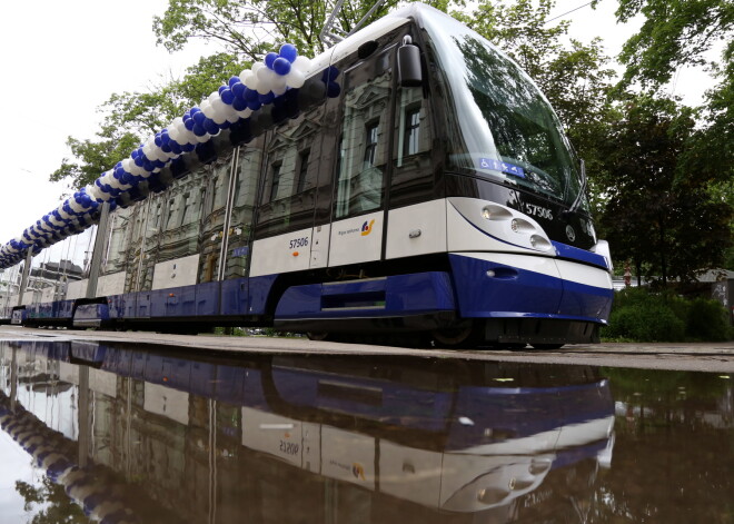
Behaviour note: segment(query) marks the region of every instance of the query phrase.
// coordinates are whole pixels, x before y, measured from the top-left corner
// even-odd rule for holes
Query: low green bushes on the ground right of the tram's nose
[[[726,310],[715,300],[628,288],[617,293],[607,339],[626,342],[720,342],[731,337]]]

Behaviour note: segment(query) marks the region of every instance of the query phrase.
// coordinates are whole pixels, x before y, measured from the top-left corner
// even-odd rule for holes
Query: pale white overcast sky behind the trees
[[[216,49],[198,45],[169,55],[156,47],[152,17],[167,0],[9,0],[0,4],[0,244],[22,233],[59,205],[63,185],[49,175],[70,151],[68,136],[95,138],[96,112],[113,92],[145,90],[161,75],[180,76],[199,56]],[[586,3],[558,0],[550,18]],[[569,13],[571,36],[588,42],[601,36],[615,55],[636,29],[615,22],[615,0],[596,11]],[[559,20],[558,20],[559,21]],[[553,23],[557,23],[553,22]],[[675,93],[697,103],[705,76],[678,75]]]

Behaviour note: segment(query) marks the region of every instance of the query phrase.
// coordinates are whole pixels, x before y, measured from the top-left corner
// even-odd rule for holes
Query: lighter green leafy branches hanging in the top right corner
[[[706,66],[717,80],[697,112],[697,126],[677,165],[677,180],[695,174],[707,185],[708,198],[734,205],[734,3],[731,0],[618,0],[617,19],[642,14],[639,32],[624,46],[619,60],[627,66],[619,89],[638,82],[649,92],[669,82],[684,66]],[[724,42],[720,61],[706,53]],[[734,225],[730,227],[730,237]],[[734,249],[723,263],[734,269]]]

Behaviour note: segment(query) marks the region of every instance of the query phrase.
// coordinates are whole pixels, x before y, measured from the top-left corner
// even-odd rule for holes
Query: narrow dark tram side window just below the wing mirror
[[[435,190],[428,99],[421,87],[400,88],[396,103],[390,207],[429,200]]]

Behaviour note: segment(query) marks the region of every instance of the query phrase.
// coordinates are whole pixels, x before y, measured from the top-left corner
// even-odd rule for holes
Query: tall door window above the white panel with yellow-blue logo
[[[375,65],[384,67],[381,70]],[[383,206],[391,91],[389,62],[361,65],[348,72],[344,97],[336,218],[361,215]]]

